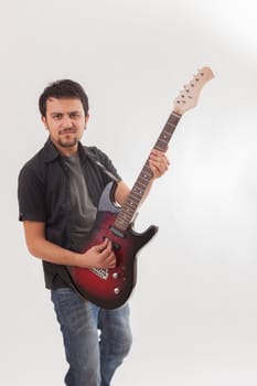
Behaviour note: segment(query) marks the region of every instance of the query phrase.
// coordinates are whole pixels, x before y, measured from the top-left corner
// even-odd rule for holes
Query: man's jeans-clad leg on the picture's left
[[[97,319],[99,308],[69,288],[52,291],[52,301],[63,333],[67,386],[99,386],[100,363]]]

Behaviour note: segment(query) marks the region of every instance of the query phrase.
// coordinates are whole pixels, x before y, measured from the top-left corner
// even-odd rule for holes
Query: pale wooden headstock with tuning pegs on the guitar
[[[174,100],[174,111],[182,115],[197,105],[202,87],[214,77],[210,67],[203,67],[194,75],[192,81]]]

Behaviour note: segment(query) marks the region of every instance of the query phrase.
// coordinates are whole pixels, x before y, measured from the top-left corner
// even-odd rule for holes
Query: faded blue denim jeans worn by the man
[[[69,288],[52,290],[63,333],[68,386],[109,386],[131,346],[129,307],[105,310]]]

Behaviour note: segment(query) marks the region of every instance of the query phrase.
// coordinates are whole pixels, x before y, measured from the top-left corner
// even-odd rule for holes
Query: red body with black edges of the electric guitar
[[[141,234],[136,233],[131,227],[125,232],[114,228],[120,211],[110,200],[114,186],[110,183],[103,192],[94,228],[88,234],[82,253],[103,243],[107,237],[113,242],[117,258],[116,268],[66,267],[79,294],[105,309],[118,308],[128,300],[137,279],[137,253],[158,232],[156,226],[150,226]]]

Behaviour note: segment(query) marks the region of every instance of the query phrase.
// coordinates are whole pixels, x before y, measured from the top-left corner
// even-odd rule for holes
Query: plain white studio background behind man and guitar
[[[4,3],[6,2],[6,3]],[[0,384],[63,385],[61,333],[18,222],[17,176],[43,144],[38,97],[82,83],[84,143],[131,185],[172,101],[202,66],[215,78],[172,138],[171,168],[140,211],[133,347],[114,386],[257,385],[257,28],[254,0],[2,1]]]

